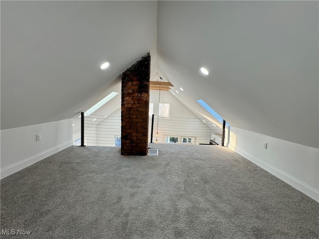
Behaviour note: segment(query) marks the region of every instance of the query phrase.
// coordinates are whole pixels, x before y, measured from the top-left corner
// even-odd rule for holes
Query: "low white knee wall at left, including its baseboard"
[[[72,119],[1,130],[1,179],[73,144]],[[41,134],[36,141],[35,135]]]

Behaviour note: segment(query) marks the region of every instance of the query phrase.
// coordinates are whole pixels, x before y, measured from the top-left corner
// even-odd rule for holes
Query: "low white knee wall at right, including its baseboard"
[[[230,149],[319,202],[318,148],[236,127],[227,134]]]

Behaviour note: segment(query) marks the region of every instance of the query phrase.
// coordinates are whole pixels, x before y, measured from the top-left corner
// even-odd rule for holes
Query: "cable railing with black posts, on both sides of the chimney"
[[[84,114],[82,115],[84,116]],[[82,117],[81,146],[121,146],[121,116]],[[225,121],[199,118],[149,118],[149,142],[223,145]],[[214,143],[214,144],[215,144]]]

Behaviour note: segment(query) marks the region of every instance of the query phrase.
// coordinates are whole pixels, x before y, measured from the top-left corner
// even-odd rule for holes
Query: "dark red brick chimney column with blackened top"
[[[147,54],[122,74],[122,155],[147,155],[150,68]]]

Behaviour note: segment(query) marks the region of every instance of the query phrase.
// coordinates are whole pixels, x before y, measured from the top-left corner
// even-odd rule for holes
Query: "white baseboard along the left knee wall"
[[[26,168],[26,167],[28,167],[28,166],[30,166],[30,165],[32,165],[32,164],[44,159],[44,158],[49,157],[52,154],[57,153],[57,152],[65,149],[67,147],[70,147],[72,145],[73,145],[73,140],[70,140],[70,141],[62,143],[60,145],[57,145],[57,146],[55,146],[53,148],[50,148],[48,150],[45,150],[45,151],[43,151],[41,153],[38,153],[38,154],[35,154],[35,155],[31,156],[31,157],[23,159],[23,160],[21,160],[21,161],[19,161],[17,163],[11,164],[11,165],[9,165],[9,166],[7,166],[5,168],[2,168],[1,171],[0,171],[1,179],[9,176],[12,173],[20,171],[21,169]]]

